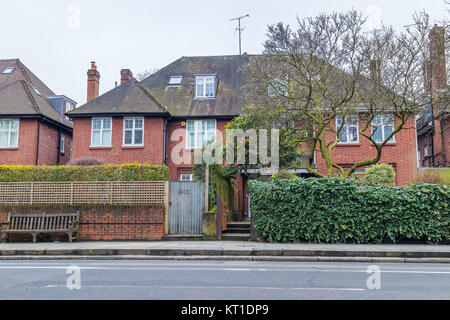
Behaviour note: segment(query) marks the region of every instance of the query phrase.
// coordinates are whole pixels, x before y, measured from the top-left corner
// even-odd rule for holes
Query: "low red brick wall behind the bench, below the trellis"
[[[79,240],[160,240],[164,233],[163,206],[86,206],[0,208],[0,225],[8,212],[69,213],[80,211]],[[48,241],[67,241],[67,235],[43,235]],[[10,235],[10,241],[30,241],[30,235]]]

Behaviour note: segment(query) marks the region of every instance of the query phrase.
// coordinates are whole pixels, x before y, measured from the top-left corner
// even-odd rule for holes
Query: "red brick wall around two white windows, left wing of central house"
[[[72,159],[95,157],[116,164],[133,162],[162,164],[164,118],[145,117],[143,147],[122,147],[123,117],[113,117],[111,147],[90,147],[91,124],[92,118],[74,119]]]

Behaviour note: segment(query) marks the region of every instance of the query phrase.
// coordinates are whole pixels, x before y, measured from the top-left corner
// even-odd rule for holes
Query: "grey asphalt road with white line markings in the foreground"
[[[449,264],[371,265],[0,261],[0,299],[450,299]]]

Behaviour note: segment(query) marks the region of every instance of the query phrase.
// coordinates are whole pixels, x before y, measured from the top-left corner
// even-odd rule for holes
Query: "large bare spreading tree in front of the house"
[[[259,112],[259,126],[295,123],[307,152],[306,169],[317,176],[344,178],[357,168],[377,163],[383,147],[427,101],[423,63],[427,54],[429,18],[414,15],[414,25],[396,33],[383,27],[364,32],[366,19],[357,11],[298,19],[292,30],[283,23],[269,26],[261,59],[248,65],[247,92]],[[262,111],[263,110],[263,111]],[[359,120],[359,126],[353,125]],[[391,130],[381,135],[380,126]],[[376,156],[350,168],[333,160],[339,142],[368,139]],[[327,173],[314,170],[315,152]]]

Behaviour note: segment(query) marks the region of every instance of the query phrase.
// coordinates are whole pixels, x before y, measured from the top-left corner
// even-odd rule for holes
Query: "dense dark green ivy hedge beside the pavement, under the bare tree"
[[[335,178],[250,181],[258,236],[270,242],[450,239],[450,188],[364,186]]]

